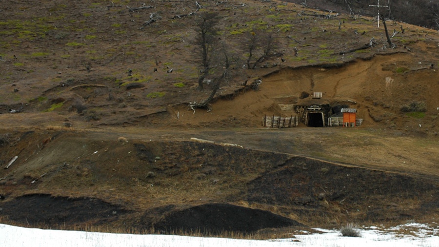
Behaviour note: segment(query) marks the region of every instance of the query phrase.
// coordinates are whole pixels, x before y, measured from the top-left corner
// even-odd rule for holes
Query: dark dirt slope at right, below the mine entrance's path
[[[296,207],[299,214],[307,208],[385,222],[435,212],[438,191],[434,181],[297,157],[250,182],[247,196],[251,202]]]

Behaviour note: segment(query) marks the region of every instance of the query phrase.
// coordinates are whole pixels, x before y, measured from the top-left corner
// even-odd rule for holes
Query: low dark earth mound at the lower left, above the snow
[[[28,194],[0,203],[0,216],[30,225],[99,223],[116,220],[127,210],[96,198],[54,197]]]

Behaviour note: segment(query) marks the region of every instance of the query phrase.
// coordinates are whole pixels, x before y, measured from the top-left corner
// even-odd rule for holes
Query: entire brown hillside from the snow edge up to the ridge
[[[389,22],[399,31],[390,48],[370,18],[281,1],[200,4],[1,7],[1,222],[168,230],[212,205],[260,220],[272,215],[241,207],[268,210],[288,226],[437,217],[436,31]],[[188,107],[212,91],[197,90],[194,57],[194,23],[207,12],[220,13],[218,40],[233,61],[209,112]],[[252,32],[278,48],[248,69],[242,44]],[[302,97],[313,92],[322,99]],[[364,122],[262,127],[264,115],[289,117],[297,112],[285,106],[310,102],[356,108]]]

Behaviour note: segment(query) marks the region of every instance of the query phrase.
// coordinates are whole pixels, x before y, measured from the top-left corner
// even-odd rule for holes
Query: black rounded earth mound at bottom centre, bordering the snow
[[[251,233],[263,228],[303,226],[269,211],[230,204],[204,204],[176,211],[156,223],[159,231],[219,234],[226,231]]]

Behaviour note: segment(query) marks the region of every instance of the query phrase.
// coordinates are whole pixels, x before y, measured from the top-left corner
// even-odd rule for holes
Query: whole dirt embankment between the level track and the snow
[[[209,135],[225,136],[215,133]],[[253,232],[299,223],[396,223],[438,214],[438,183],[428,175],[171,141],[178,136],[169,135],[151,134],[142,141],[99,132],[47,134],[11,134],[9,140],[16,142],[1,147],[2,157],[21,150],[13,165],[0,170],[2,219]],[[252,217],[260,225],[247,224]]]

